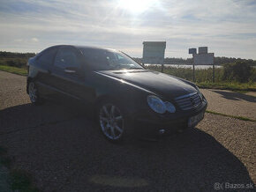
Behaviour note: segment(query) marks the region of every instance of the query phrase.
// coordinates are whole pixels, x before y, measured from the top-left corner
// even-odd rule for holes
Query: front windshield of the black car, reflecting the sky
[[[115,50],[81,48],[86,63],[92,70],[143,70],[129,56]]]

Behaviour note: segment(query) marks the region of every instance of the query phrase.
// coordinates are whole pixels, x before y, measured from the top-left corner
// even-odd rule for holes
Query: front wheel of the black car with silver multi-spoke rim
[[[124,109],[112,100],[105,100],[97,107],[97,123],[105,138],[120,143],[127,137],[127,120]]]

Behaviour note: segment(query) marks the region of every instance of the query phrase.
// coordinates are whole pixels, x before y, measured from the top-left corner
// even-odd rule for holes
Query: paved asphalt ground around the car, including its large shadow
[[[158,142],[110,144],[80,110],[30,104],[25,85],[0,71],[0,145],[42,191],[234,191],[256,181],[255,122],[206,114]]]

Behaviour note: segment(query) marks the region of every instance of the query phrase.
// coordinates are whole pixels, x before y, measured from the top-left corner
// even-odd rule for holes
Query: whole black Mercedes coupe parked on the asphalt
[[[46,48],[28,61],[26,91],[34,104],[51,98],[93,108],[110,141],[194,127],[207,108],[192,82],[147,70],[123,52],[105,48]]]

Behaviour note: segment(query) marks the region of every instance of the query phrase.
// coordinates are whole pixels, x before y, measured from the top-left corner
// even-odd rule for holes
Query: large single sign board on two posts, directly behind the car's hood
[[[143,63],[162,64],[166,41],[144,41]]]

